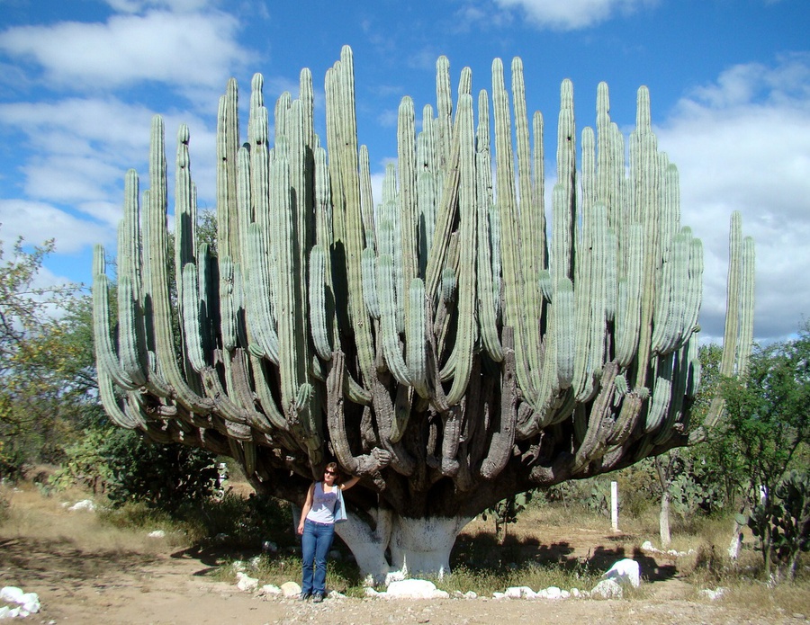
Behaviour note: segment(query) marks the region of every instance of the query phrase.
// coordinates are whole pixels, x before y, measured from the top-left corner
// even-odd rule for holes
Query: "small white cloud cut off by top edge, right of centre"
[[[538,27],[574,31],[605,22],[616,13],[632,13],[655,0],[495,0],[500,8],[520,9]]]

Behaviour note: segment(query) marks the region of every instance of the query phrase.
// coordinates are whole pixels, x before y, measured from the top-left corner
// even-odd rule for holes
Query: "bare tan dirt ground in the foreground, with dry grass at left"
[[[19,499],[19,498],[18,498]],[[19,505],[19,501],[17,502]],[[0,586],[16,585],[40,596],[36,623],[797,623],[806,615],[779,606],[752,613],[727,599],[696,600],[691,585],[671,562],[643,558],[643,598],[596,601],[570,599],[444,600],[329,599],[298,603],[238,591],[211,579],[219,558],[173,548],[167,540],[128,544],[102,536],[93,513],[37,511],[0,527]],[[83,527],[83,524],[86,527]],[[621,556],[617,537],[572,528],[544,536],[533,530],[536,549],[561,554]],[[631,555],[631,554],[627,554]]]

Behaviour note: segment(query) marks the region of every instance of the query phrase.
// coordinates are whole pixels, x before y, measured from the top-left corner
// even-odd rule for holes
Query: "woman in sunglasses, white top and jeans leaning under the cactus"
[[[356,485],[360,478],[341,483],[338,465],[329,462],[322,482],[315,482],[307,491],[307,500],[301,511],[298,533],[301,534],[303,576],[301,599],[312,597],[314,603],[323,601],[326,585],[326,558],[335,536],[335,506],[338,489],[343,491]]]

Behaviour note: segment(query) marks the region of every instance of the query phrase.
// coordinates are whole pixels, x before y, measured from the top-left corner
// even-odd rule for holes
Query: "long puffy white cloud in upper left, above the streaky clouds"
[[[221,90],[233,67],[250,57],[238,43],[238,26],[227,13],[152,11],[105,23],[10,28],[0,32],[0,50],[33,60],[50,85],[74,90],[139,82]]]

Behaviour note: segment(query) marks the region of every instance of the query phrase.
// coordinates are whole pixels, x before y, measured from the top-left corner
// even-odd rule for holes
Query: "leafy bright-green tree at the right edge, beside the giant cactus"
[[[810,530],[801,519],[785,517],[792,510],[801,514],[806,507],[789,501],[806,493],[806,488],[793,487],[801,478],[794,475],[789,483],[786,478],[795,469],[806,471],[810,459],[810,325],[797,339],[757,349],[744,376],[724,380],[723,395],[726,415],[721,431],[728,469],[741,477],[740,487],[752,510],[749,525],[761,539],[766,575],[790,577],[795,549],[802,542],[788,540],[795,549],[784,549],[784,525],[798,523],[805,532]]]

